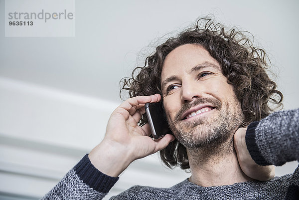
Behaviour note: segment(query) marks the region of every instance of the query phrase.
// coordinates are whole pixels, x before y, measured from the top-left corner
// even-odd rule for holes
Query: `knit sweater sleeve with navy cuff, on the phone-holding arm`
[[[118,179],[98,171],[85,155],[41,200],[101,200]]]

